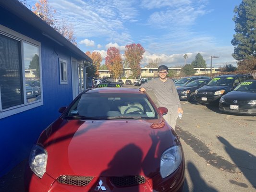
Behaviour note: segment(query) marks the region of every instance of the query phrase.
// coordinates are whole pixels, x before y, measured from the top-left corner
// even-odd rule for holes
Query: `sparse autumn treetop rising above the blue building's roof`
[[[76,37],[74,36],[73,25],[64,20],[58,21],[55,18],[56,10],[54,10],[52,6],[49,6],[48,0],[38,0],[35,6],[32,6],[32,10],[62,36],[71,41],[75,46],[78,46]]]

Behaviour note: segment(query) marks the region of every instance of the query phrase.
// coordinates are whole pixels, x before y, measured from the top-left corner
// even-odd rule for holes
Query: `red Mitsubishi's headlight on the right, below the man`
[[[161,156],[160,175],[166,178],[171,175],[182,162],[182,149],[180,145],[172,146],[167,149]]]

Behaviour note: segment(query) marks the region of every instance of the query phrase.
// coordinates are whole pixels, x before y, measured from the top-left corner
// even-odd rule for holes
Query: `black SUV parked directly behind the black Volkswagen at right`
[[[253,79],[251,74],[226,74],[214,77],[207,85],[195,90],[195,99],[199,103],[219,105],[221,96],[232,91],[235,86]]]

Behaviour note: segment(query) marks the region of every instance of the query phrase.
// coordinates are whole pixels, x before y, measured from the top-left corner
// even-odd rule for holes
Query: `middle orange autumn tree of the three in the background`
[[[105,64],[110,70],[110,75],[113,78],[117,79],[122,75],[122,58],[118,48],[108,48]]]

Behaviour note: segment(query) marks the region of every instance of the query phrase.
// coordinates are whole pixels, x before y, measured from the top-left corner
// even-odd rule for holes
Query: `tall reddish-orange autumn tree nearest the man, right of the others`
[[[142,55],[145,53],[145,49],[138,44],[130,44],[125,46],[124,57],[125,62],[128,63],[128,66],[133,72],[133,77],[138,78],[140,76],[140,62],[142,60]]]

